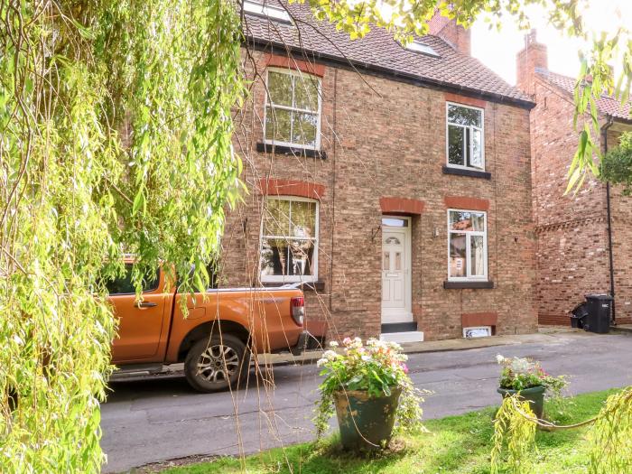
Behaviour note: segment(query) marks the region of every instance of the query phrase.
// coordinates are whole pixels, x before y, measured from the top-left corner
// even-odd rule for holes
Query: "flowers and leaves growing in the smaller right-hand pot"
[[[525,390],[534,386],[544,386],[553,395],[559,396],[562,389],[568,385],[566,376],[550,376],[540,366],[540,363],[529,358],[496,357],[502,366],[498,380],[500,388],[509,390]]]

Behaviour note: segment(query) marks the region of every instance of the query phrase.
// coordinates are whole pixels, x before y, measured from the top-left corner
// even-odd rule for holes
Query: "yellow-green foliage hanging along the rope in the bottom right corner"
[[[599,414],[590,420],[558,426],[534,418],[528,403],[516,395],[507,397],[494,421],[494,446],[491,472],[496,474],[501,456],[507,450],[507,467],[514,474],[530,472],[535,446],[535,428],[546,431],[580,428],[591,424],[587,437],[588,472],[590,474],[622,474],[632,472],[632,386],[610,395]]]

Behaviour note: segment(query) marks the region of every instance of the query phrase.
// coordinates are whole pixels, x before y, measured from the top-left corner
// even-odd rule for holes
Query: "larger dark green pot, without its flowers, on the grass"
[[[340,441],[347,450],[378,450],[391,440],[395,411],[402,389],[391,395],[369,397],[364,390],[341,390],[335,395]]]

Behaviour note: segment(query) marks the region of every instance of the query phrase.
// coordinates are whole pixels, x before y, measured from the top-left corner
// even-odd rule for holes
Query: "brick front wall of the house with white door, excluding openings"
[[[497,334],[535,330],[528,111],[484,104],[486,168],[492,176],[484,180],[442,173],[443,92],[326,67],[322,93],[325,160],[256,153],[265,94],[259,82],[238,114],[236,150],[244,157],[243,178],[251,191],[229,213],[224,284],[257,283],[262,200],[254,185],[265,177],[310,181],[325,186],[319,232],[324,291],[306,293],[307,317],[327,321],[330,337],[380,332],[380,199],[389,197],[424,203],[412,217],[412,309],[426,339],[462,337],[461,318],[469,313],[497,313]],[[487,202],[494,289],[443,289],[445,198],[455,196]]]

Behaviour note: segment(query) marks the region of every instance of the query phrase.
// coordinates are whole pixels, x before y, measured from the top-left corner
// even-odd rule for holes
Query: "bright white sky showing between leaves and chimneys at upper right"
[[[590,32],[617,30],[618,25],[632,18],[632,0],[588,0],[584,18],[589,18]],[[578,51],[588,44],[571,39],[548,24],[544,13],[538,9],[530,12],[531,26],[537,30],[537,41],[546,44],[549,70],[575,77],[580,70]],[[515,23],[503,24],[502,30],[489,31],[488,23],[477,21],[472,26],[472,56],[497,72],[509,84],[516,84],[516,53],[525,45],[525,31]],[[615,65],[615,73],[618,68]]]

